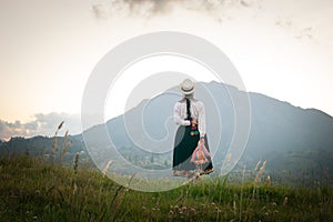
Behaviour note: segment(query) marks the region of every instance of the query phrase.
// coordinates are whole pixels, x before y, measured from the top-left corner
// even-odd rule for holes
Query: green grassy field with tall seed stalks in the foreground
[[[330,184],[189,183],[168,192],[121,186],[102,173],[38,158],[0,158],[0,221],[333,221]]]

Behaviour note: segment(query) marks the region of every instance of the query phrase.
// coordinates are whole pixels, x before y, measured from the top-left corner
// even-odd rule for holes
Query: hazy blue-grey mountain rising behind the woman
[[[143,100],[125,114],[70,137],[73,148],[69,151],[85,150],[84,138],[90,157],[101,169],[112,160],[113,168],[127,174],[137,172],[137,167],[168,170],[176,131],[173,105],[180,97],[173,88],[151,100]],[[333,118],[326,113],[297,108],[260,93],[245,93],[218,82],[199,83],[195,98],[205,104],[209,145],[216,174],[221,168],[236,163],[236,169],[245,165],[252,171],[260,160],[268,161],[265,172],[274,174],[276,180],[301,176],[313,182],[333,169]],[[249,99],[250,112],[246,112],[244,98]],[[248,131],[249,140],[243,149],[242,139],[235,132],[243,133],[244,138]],[[20,145],[14,145],[16,140],[2,144],[0,151],[9,145],[21,149],[32,144],[52,147],[52,139],[41,137],[20,139],[26,141]]]

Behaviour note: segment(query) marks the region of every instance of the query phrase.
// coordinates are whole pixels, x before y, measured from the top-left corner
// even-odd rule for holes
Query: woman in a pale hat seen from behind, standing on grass
[[[193,98],[194,82],[185,79],[180,90],[183,98],[174,104],[174,122],[180,124],[174,140],[173,150],[173,175],[191,178],[200,174],[209,174],[213,172],[211,158],[209,162],[195,165],[191,162],[191,157],[198,142],[205,145],[209,150],[209,144],[205,134],[205,113],[204,105],[201,101]]]

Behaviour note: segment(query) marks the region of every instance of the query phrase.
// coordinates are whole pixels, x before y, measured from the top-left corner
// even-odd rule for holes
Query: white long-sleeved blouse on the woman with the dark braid
[[[205,112],[204,105],[201,101],[195,99],[190,99],[191,101],[191,117],[192,119],[198,120],[198,130],[200,132],[200,137],[205,135]],[[190,125],[191,122],[185,120],[188,118],[186,113],[186,100],[182,99],[174,104],[173,112],[174,122],[181,125]]]

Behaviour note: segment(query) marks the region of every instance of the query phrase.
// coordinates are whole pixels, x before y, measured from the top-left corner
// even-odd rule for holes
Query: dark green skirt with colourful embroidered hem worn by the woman
[[[181,125],[176,131],[172,163],[173,175],[191,176],[198,171],[200,172],[200,174],[209,174],[213,172],[213,164],[211,158],[209,158],[208,163],[202,164],[200,167],[191,162],[192,153],[198,147],[200,135],[191,135],[190,133],[190,125]],[[205,147],[210,151],[206,135],[204,139]]]

